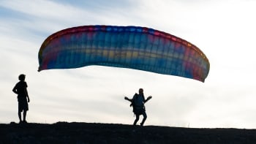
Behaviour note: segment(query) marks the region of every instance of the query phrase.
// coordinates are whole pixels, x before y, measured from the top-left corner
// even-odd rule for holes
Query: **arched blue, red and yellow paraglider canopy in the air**
[[[210,64],[195,45],[139,26],[79,26],[50,35],[38,54],[39,69],[89,65],[123,67],[204,82]]]

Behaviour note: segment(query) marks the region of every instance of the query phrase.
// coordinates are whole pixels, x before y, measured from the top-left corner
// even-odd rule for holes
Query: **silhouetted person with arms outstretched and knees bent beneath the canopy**
[[[133,125],[136,125],[139,121],[140,115],[143,115],[143,120],[140,123],[140,126],[143,126],[144,122],[146,121],[147,114],[145,110],[144,104],[148,102],[149,99],[151,99],[152,96],[148,96],[147,99],[145,99],[143,94],[143,88],[139,89],[139,94],[135,94],[132,99],[129,99],[127,96],[124,97],[124,99],[128,100],[129,102],[132,102],[130,106],[133,107],[133,113],[136,115],[136,119],[133,123]]]

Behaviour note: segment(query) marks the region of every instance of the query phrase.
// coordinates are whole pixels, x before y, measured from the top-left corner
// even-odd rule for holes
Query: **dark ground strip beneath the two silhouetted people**
[[[0,143],[256,144],[256,129],[194,129],[123,124],[0,124]]]

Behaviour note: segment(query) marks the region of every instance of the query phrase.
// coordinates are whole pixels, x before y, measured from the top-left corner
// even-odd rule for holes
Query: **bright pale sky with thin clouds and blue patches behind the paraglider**
[[[29,122],[132,124],[124,96],[144,88],[153,96],[146,125],[255,129],[255,7],[253,0],[2,0],[0,123],[18,122],[12,88],[24,73]],[[210,61],[206,82],[99,66],[37,72],[50,34],[85,25],[146,26],[186,39]]]

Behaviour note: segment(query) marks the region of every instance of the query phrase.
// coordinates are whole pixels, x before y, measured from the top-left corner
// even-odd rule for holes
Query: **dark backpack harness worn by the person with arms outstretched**
[[[132,98],[132,107],[133,107],[133,113],[135,114],[141,114],[143,113],[144,108],[144,99],[143,96],[139,96],[137,93]]]

